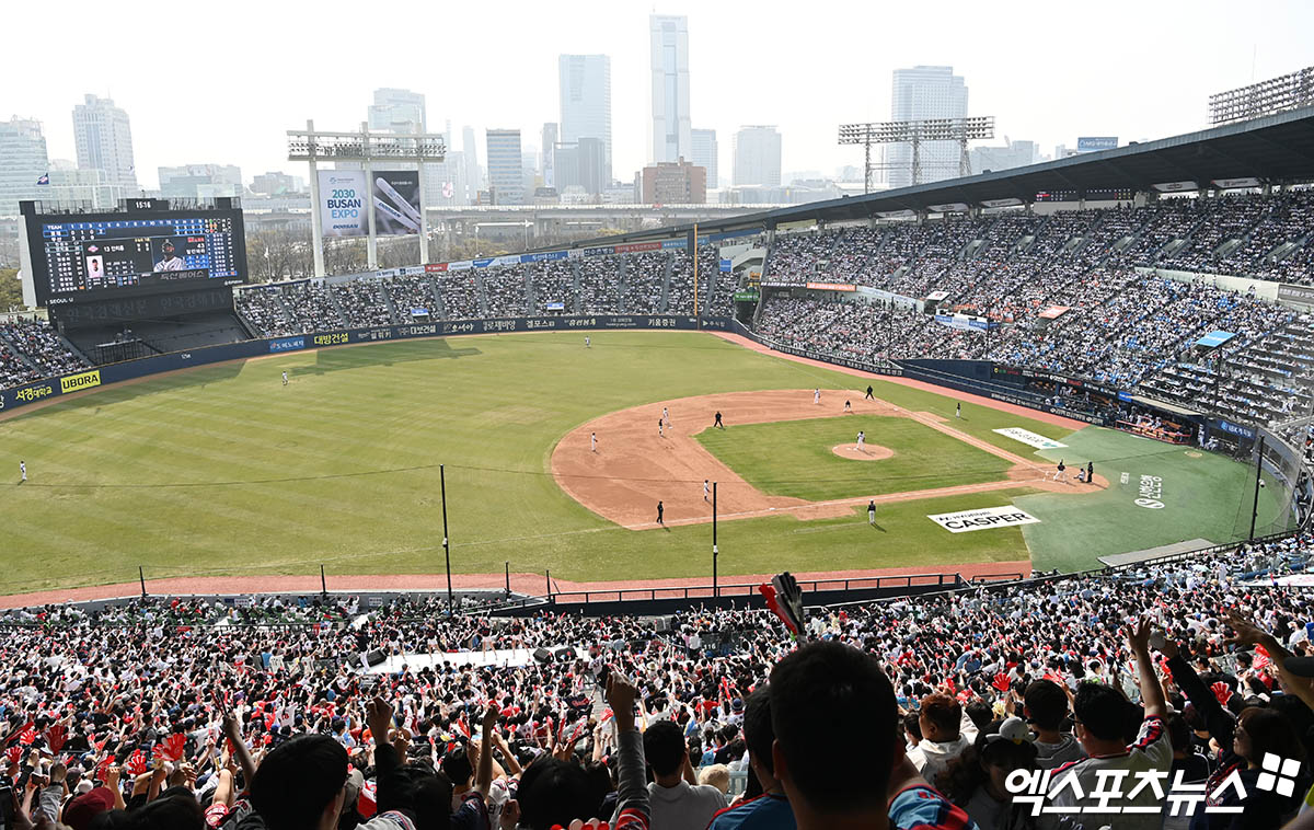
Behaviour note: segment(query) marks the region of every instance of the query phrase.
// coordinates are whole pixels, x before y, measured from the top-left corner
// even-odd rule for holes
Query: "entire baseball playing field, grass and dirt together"
[[[459,574],[707,578],[704,481],[723,577],[1075,570],[1248,521],[1244,465],[975,401],[958,418],[959,399],[677,332],[595,332],[589,349],[557,332],[414,340],[151,377],[0,420],[4,594],[130,582],[138,566],[442,573],[439,465]],[[1055,453],[1070,473],[1093,461],[1097,482],[1049,481]],[[1163,479],[1164,508],[1134,503],[1142,474]],[[950,533],[928,517],[1014,503],[1039,523]]]

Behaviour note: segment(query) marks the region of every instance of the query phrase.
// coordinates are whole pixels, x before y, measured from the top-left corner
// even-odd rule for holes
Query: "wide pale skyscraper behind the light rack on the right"
[[[895,70],[890,120],[966,118],[967,85],[951,66],[917,66]],[[920,183],[958,176],[958,142],[922,142],[918,151]],[[907,188],[912,181],[912,144],[886,148],[890,186]]]

